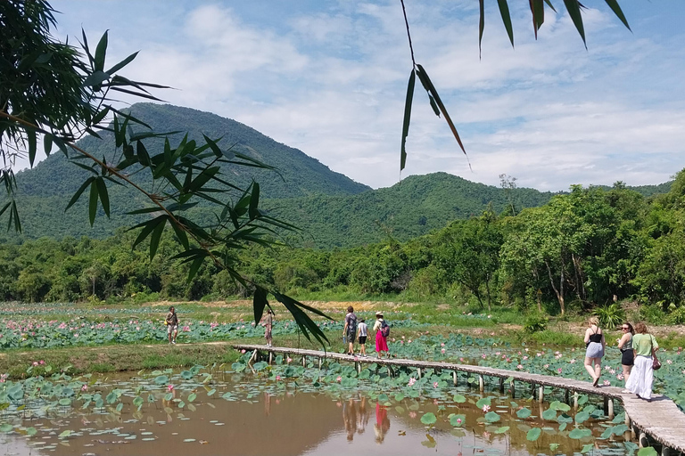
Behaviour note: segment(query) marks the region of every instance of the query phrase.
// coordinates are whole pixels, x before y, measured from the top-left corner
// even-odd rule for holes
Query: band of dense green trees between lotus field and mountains
[[[685,321],[685,170],[668,193],[644,197],[572,187],[539,208],[492,208],[427,235],[354,248],[250,248],[238,253],[254,281],[313,294],[458,301],[579,313],[635,299]],[[169,233],[167,233],[169,234]],[[170,235],[151,262],[134,233],[105,240],[42,238],[0,246],[0,299],[71,301],[247,296],[205,264],[191,282],[169,258]],[[153,296],[151,296],[153,294]]]

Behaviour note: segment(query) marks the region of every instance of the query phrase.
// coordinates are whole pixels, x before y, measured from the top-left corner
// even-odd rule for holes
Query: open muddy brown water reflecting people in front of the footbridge
[[[264,382],[260,384],[263,386]],[[120,387],[127,387],[123,385]],[[128,384],[130,387],[130,384]],[[193,386],[191,386],[193,387]],[[227,382],[211,397],[195,385],[197,399],[179,409],[178,400],[190,388],[174,391],[171,401],[145,402],[140,411],[133,396],[124,396],[124,408],[68,409],[48,418],[23,419],[12,424],[37,428],[33,437],[0,434],[0,455],[321,455],[336,454],[573,454],[592,437],[574,440],[557,431],[558,424],[540,419],[517,419],[516,408],[506,395],[490,394],[492,410],[501,419],[494,425],[478,422],[483,411],[473,403],[451,403],[438,399],[403,399],[384,406],[367,397],[367,391],[331,393],[301,392],[293,383],[278,389],[266,387],[255,393],[255,382]],[[225,391],[235,395],[227,401]],[[165,391],[159,393],[163,396]],[[475,402],[480,395],[461,394]],[[178,396],[178,397],[176,397]],[[547,404],[518,401],[540,416]],[[440,407],[440,409],[439,409]],[[438,421],[433,428],[421,423],[426,412]],[[450,413],[466,415],[465,428],[453,428]],[[571,413],[571,412],[570,412]],[[571,413],[573,414],[573,413]],[[499,427],[509,426],[504,434]],[[606,427],[598,421],[584,423],[598,437]],[[536,442],[526,440],[532,427],[542,427]],[[569,425],[569,429],[573,425]],[[58,438],[65,429],[74,432]],[[622,437],[597,441],[603,454],[624,454]],[[559,444],[553,452],[549,444]]]

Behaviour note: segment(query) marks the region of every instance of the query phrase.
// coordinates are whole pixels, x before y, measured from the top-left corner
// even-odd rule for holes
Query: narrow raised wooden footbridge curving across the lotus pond
[[[573,402],[574,408],[578,407],[578,394],[600,395],[604,398],[605,414],[611,418],[614,417],[614,400],[622,403],[625,411],[625,424],[636,431],[636,434],[640,434],[640,445],[645,442],[644,437],[649,436],[662,445],[662,456],[673,456],[671,452],[685,453],[685,413],[680,411],[678,406],[664,395],[653,395],[652,401],[648,403],[636,395],[622,393],[622,389],[618,387],[593,387],[590,382],[581,380],[505,371],[469,364],[376,358],[373,356],[359,357],[281,346],[234,345],[233,347],[237,350],[252,352],[251,361],[259,359],[262,353],[268,354],[269,362],[272,361],[273,354],[286,354],[301,357],[303,365],[307,363],[308,358],[317,359],[319,368],[325,359],[337,362],[354,362],[358,371],[361,371],[361,364],[376,363],[385,367],[391,376],[394,375],[393,367],[415,368],[419,377],[422,375],[422,370],[425,369],[451,371],[455,386],[458,384],[457,373],[466,372],[466,374],[477,377],[478,387],[481,391],[486,386],[486,379],[498,379],[499,391],[504,393],[505,383],[508,380],[512,395],[516,391],[515,382],[519,381],[531,385],[533,393],[537,388],[537,398],[540,401],[544,399],[544,388],[554,387],[565,391],[566,403]]]

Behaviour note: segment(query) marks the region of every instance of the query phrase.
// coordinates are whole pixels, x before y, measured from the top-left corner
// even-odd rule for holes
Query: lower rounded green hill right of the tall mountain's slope
[[[491,205],[499,213],[514,205],[545,204],[553,193],[474,183],[456,175],[411,175],[392,187],[350,196],[312,196],[264,201],[265,208],[303,228],[293,242],[308,247],[352,247],[384,240],[409,240],[457,219],[480,216]]]

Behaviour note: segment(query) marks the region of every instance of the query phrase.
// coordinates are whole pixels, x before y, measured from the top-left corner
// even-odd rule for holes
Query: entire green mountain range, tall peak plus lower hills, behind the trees
[[[231,176],[233,183],[243,187],[252,179],[260,183],[261,207],[301,228],[301,236],[291,235],[289,238],[295,245],[351,247],[389,236],[396,240],[409,240],[442,228],[452,220],[480,215],[489,206],[497,213],[510,210],[512,206],[518,212],[522,208],[541,206],[553,195],[525,188],[503,190],[446,173],[413,175],[392,187],[371,190],[345,175],[334,173],[302,151],[276,142],[235,120],[152,103],[135,104],[131,112],[136,118],[154,126],[155,131],[188,132],[189,137],[196,140],[202,140],[202,134],[213,139],[221,137],[221,147],[243,152],[277,167],[280,175],[244,167],[225,169],[224,172]],[[104,141],[88,137],[78,145],[112,162],[113,140],[108,139],[111,138],[106,135]],[[174,135],[172,144],[180,139],[181,134]],[[150,141],[146,146],[153,151],[162,144]],[[126,212],[146,204],[136,192],[117,185],[110,186],[110,220],[101,214],[95,226],[89,226],[87,195],[65,213],[68,201],[87,176],[86,171],[71,164],[61,152],[33,169],[18,173],[17,199],[23,233],[0,233],[0,242],[41,236],[104,238],[111,236],[120,226],[144,220],[144,216],[138,216],[137,220],[125,216]],[[151,189],[152,182],[145,175],[141,173],[135,178],[143,188]],[[668,191],[670,184],[646,185],[633,190],[648,196]],[[198,206],[192,211],[201,218],[212,216],[208,208]]]

